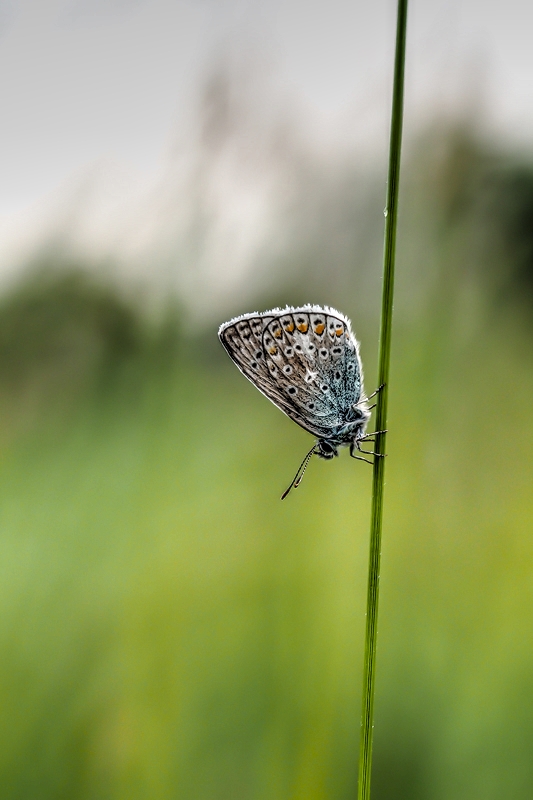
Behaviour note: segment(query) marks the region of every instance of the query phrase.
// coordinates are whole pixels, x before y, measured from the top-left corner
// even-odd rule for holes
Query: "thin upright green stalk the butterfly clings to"
[[[378,385],[383,385],[383,389],[379,393],[377,401],[377,431],[385,431],[387,428],[392,302],[394,293],[394,261],[396,249],[396,221],[398,217],[400,152],[402,144],[407,0],[398,0],[396,26],[396,54],[394,59],[389,174],[387,184],[387,204],[385,207],[383,299],[381,307],[381,333],[379,343]],[[375,444],[376,453],[386,452],[386,437],[386,432],[377,434]],[[358,800],[369,800],[370,798],[385,461],[385,458],[374,458],[372,512],[370,520],[370,556],[368,566],[365,661],[363,674],[363,702],[361,713],[361,742],[359,751],[359,783],[357,793]]]

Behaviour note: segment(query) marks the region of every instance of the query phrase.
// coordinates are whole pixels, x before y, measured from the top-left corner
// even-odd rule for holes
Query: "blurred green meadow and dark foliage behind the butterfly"
[[[280,503],[310,438],[216,329],[337,306],[375,388],[384,168],[300,170],[271,280],[218,312],[58,242],[5,287],[2,800],[355,796],[371,470]],[[373,798],[525,800],[533,161],[436,120],[398,247]]]

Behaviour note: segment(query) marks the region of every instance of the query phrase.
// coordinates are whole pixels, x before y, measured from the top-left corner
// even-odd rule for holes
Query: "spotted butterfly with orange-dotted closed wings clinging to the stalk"
[[[317,437],[282,500],[300,485],[315,454],[331,459],[349,445],[360,461],[368,459],[357,453],[381,457],[362,450],[361,442],[374,441],[376,434],[365,432],[374,408],[367,400],[383,387],[365,397],[359,342],[344,314],[328,306],[274,308],[235,317],[220,326],[218,336],[243,375]]]

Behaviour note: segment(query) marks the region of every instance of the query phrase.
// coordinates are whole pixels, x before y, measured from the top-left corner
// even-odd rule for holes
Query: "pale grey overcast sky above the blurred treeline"
[[[149,179],[222,53],[315,138],[386,137],[394,24],[393,0],[0,0],[1,230],[102,159]],[[407,131],[480,93],[488,128],[533,141],[530,0],[411,0],[409,24]]]

